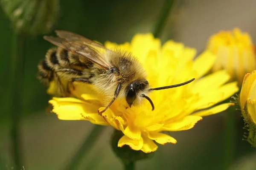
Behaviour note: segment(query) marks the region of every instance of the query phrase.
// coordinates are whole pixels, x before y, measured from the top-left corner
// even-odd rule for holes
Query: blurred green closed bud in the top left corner
[[[0,0],[18,33],[47,34],[59,16],[59,0]]]

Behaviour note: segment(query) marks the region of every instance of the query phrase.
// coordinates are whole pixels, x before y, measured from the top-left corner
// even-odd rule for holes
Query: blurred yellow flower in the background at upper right
[[[217,56],[212,71],[226,69],[240,84],[246,72],[256,69],[255,48],[251,37],[238,28],[212,35],[207,50]]]

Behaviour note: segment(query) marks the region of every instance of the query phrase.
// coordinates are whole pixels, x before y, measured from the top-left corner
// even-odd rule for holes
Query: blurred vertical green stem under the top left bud
[[[20,133],[19,123],[22,113],[22,85],[25,65],[25,46],[26,35],[22,33],[13,33],[12,60],[10,70],[10,114],[12,115],[12,151],[13,159],[17,169],[22,168],[21,151],[20,151]]]

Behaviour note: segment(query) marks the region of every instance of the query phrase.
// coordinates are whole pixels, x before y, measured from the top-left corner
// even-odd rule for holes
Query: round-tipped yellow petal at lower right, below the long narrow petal
[[[163,130],[168,131],[180,131],[180,130],[188,130],[195,126],[195,124],[202,120],[201,116],[189,115],[184,117],[181,121],[173,122],[168,125],[162,127]]]

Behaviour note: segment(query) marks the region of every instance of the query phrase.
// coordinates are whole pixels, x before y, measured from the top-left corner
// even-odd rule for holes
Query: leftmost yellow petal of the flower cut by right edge
[[[247,100],[247,96],[250,90],[250,76],[251,76],[250,73],[245,74],[243,85],[242,85],[240,96],[239,96],[240,97],[239,103],[242,109],[244,108],[244,104],[245,104],[245,101]]]

